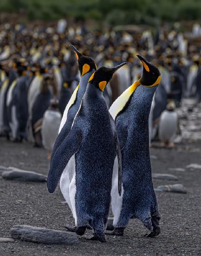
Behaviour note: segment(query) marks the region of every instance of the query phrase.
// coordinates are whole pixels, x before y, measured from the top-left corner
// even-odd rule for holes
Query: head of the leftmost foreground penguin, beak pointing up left
[[[76,47],[74,47],[73,45],[70,45],[70,47],[73,49],[76,58],[78,60],[78,67],[79,67],[79,72],[82,75],[87,74],[88,72],[94,70],[97,70],[97,66],[95,64],[95,62],[90,58],[87,57],[83,54],[81,54]]]

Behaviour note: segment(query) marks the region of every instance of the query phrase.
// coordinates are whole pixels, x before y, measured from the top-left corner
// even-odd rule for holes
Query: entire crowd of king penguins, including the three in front
[[[174,147],[177,106],[201,100],[199,35],[193,30],[187,44],[175,29],[158,30],[156,42],[149,31],[93,32],[89,44],[84,27],[60,25],[41,35],[39,27],[2,28],[0,135],[48,151],[48,190],[59,183],[75,220],[67,230],[92,228],[92,240],[104,242],[138,218],[147,237],[157,236],[149,147],[156,139]]]

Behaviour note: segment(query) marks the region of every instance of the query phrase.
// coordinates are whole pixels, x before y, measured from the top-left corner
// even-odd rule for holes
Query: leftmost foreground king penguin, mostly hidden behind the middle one
[[[97,70],[96,64],[91,58],[78,52],[78,50],[73,45],[70,45],[70,47],[74,50],[78,60],[78,68],[81,78],[77,88],[74,90],[71,96],[71,99],[65,107],[65,111],[59,127],[59,136],[56,139],[52,149],[52,157],[54,156],[60,144],[64,141],[65,137],[71,131],[71,126],[84,96],[88,80],[91,77],[91,74]]]

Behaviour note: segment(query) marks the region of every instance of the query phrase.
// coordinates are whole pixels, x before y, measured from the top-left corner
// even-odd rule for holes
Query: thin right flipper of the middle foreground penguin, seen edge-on
[[[117,136],[117,128],[116,128],[114,119],[112,118],[111,115],[110,115],[110,123],[114,132],[115,148],[116,148],[116,154],[117,154],[117,160],[118,160],[118,192],[119,192],[119,195],[121,195],[122,193],[122,153],[121,153],[119,139]]]

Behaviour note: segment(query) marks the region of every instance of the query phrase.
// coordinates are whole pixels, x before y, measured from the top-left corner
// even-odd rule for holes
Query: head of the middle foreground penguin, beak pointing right
[[[93,85],[95,85],[99,90],[104,91],[105,86],[112,78],[113,74],[120,68],[123,67],[127,62],[123,62],[120,65],[117,65],[116,67],[100,67],[97,69],[96,72],[94,72],[89,82]]]

